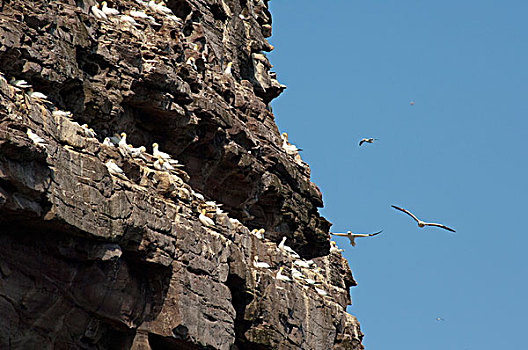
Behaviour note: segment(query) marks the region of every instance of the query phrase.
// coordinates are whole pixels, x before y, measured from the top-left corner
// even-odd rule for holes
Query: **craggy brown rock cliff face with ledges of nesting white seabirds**
[[[1,2],[0,348],[362,349],[321,194],[268,107],[267,1],[153,3]],[[121,132],[147,151],[103,144]]]

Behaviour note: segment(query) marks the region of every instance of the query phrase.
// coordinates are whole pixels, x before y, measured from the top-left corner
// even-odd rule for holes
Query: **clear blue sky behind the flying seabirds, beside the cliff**
[[[384,230],[354,248],[335,237],[366,349],[524,348],[528,2],[269,4],[288,86],[272,106],[321,213],[336,232]]]

